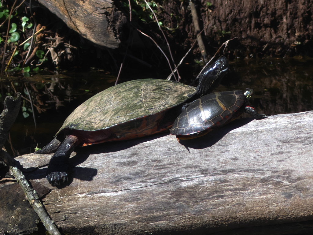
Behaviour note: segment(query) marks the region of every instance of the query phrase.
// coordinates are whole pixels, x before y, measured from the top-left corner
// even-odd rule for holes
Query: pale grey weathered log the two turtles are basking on
[[[163,135],[78,148],[62,189],[45,168],[27,177],[52,189],[46,209],[71,234],[208,234],[313,219],[313,111],[249,121],[185,146]],[[29,171],[50,156],[17,160]]]

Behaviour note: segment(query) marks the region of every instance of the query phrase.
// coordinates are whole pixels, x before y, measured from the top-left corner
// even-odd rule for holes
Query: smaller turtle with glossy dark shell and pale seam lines
[[[239,118],[244,112],[255,119],[265,118],[247,105],[254,91],[222,91],[205,95],[192,102],[173,123],[170,133],[177,139],[202,136],[213,128]]]

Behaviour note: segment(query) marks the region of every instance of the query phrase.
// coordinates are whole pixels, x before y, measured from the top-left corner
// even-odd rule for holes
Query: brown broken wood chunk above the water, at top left
[[[111,0],[38,0],[82,37],[108,48],[117,48],[121,28],[127,22]]]

